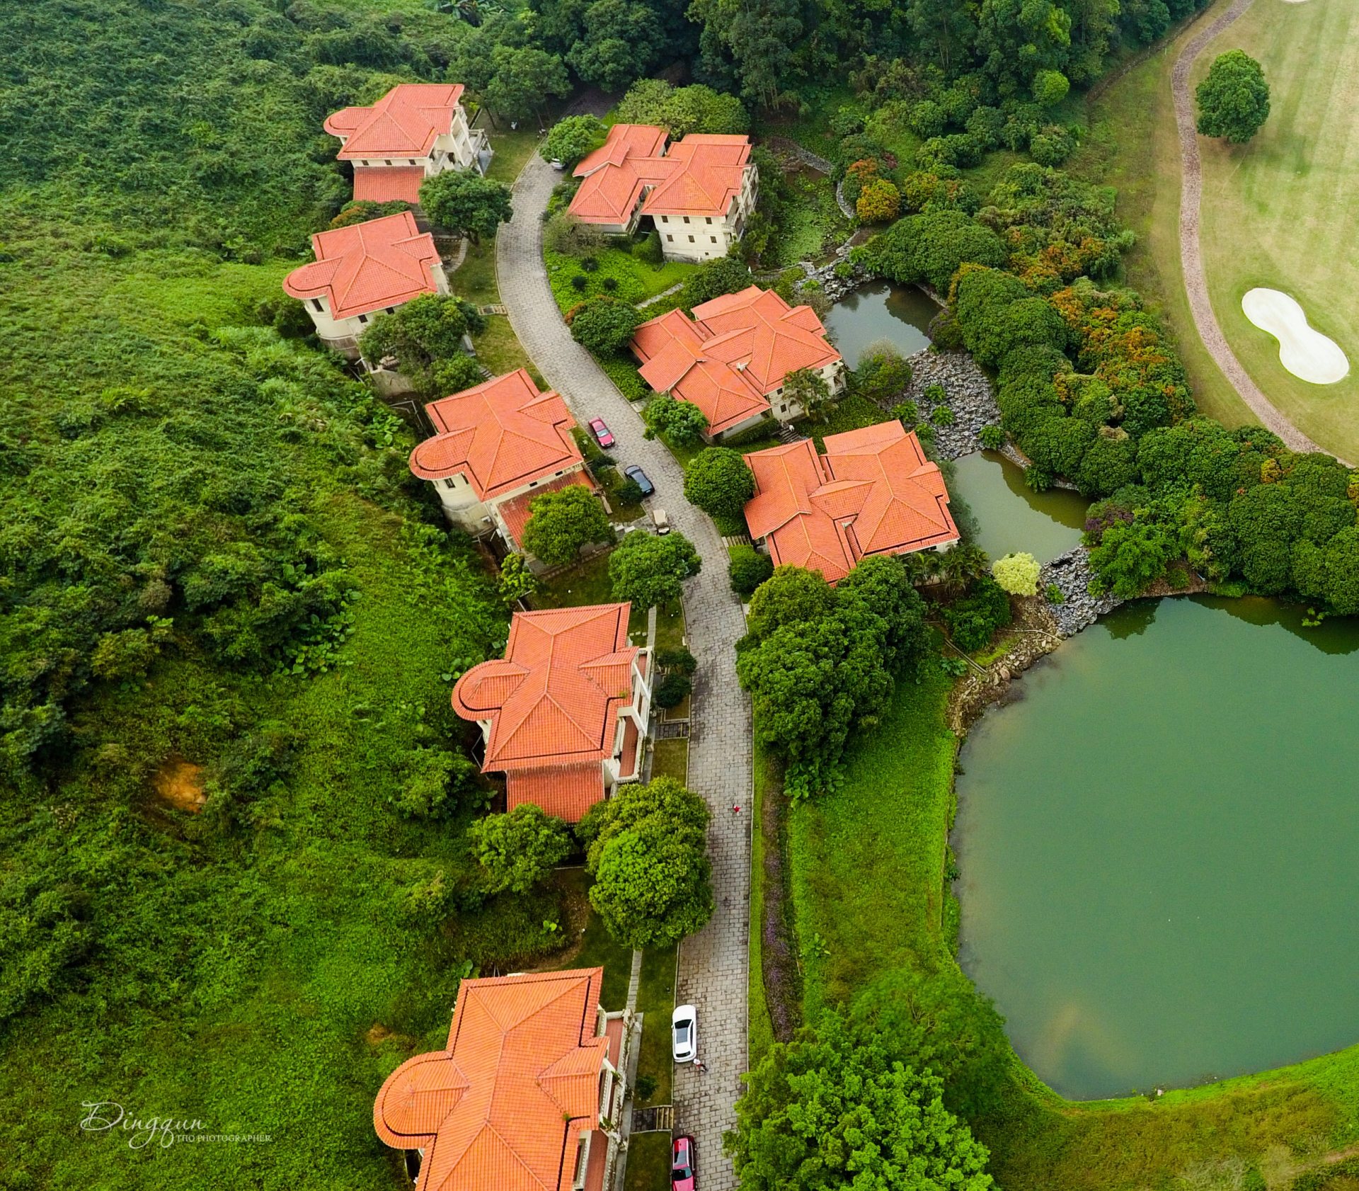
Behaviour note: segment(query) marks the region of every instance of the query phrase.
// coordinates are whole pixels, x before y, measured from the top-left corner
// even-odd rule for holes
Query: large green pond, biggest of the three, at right
[[[1359,627],[1127,605],[964,748],[962,961],[1076,1099],[1359,1041]]]

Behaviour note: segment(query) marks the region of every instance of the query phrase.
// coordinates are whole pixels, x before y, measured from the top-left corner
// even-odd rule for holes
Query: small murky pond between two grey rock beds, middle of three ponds
[[[1023,468],[996,451],[974,451],[953,466],[949,492],[955,513],[958,504],[968,506],[974,540],[992,559],[1027,551],[1046,563],[1079,544],[1090,504],[1079,492],[1034,492],[1023,481]]]

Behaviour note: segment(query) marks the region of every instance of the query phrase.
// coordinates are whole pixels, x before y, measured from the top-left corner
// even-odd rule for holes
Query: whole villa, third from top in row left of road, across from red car
[[[522,549],[529,504],[579,484],[598,491],[576,421],[556,393],[541,393],[523,368],[425,405],[435,435],[410,453],[410,470],[429,480],[444,515],[473,537],[499,533]]]

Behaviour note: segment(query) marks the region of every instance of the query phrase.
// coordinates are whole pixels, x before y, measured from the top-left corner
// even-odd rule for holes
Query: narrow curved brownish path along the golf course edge
[[[1204,48],[1219,33],[1241,16],[1254,0],[1235,0],[1216,20],[1207,29],[1195,34],[1176,58],[1174,72],[1170,76],[1170,88],[1176,103],[1176,125],[1180,131],[1180,165],[1184,184],[1180,193],[1180,260],[1184,265],[1185,292],[1189,295],[1189,310],[1193,313],[1193,322],[1199,330],[1203,345],[1216,360],[1223,375],[1241,396],[1241,400],[1250,407],[1250,412],[1260,419],[1267,430],[1272,430],[1295,451],[1320,451],[1307,435],[1284,417],[1264,394],[1260,386],[1250,379],[1250,374],[1241,366],[1237,353],[1227,343],[1218,324],[1218,315],[1212,310],[1208,298],[1208,273],[1203,264],[1203,247],[1199,242],[1199,208],[1203,200],[1203,166],[1199,160],[1199,133],[1195,128],[1195,101],[1189,91],[1189,71],[1195,60]]]

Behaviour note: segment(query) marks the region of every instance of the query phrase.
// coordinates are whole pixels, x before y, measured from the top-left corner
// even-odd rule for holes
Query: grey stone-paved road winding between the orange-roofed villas
[[[640,464],[656,485],[652,504],[703,556],[685,591],[689,649],[699,659],[692,699],[689,784],[708,799],[712,829],[712,922],[680,949],[677,1003],[699,1010],[699,1054],[707,1065],[675,1069],[675,1133],[693,1134],[704,1191],[735,1186],[722,1134],[735,1123],[746,1070],[746,980],[750,907],[750,703],[737,684],[733,647],[745,634],[741,605],[727,586],[727,551],[712,522],[684,499],[684,472],[659,442],[641,436],[641,419],[561,321],[542,265],[542,212],[559,175],[534,156],[514,190],[514,219],[496,239],[500,300],[519,343],[546,382],[584,424],[603,417],[618,439],[620,465]],[[739,814],[731,813],[733,805]]]

